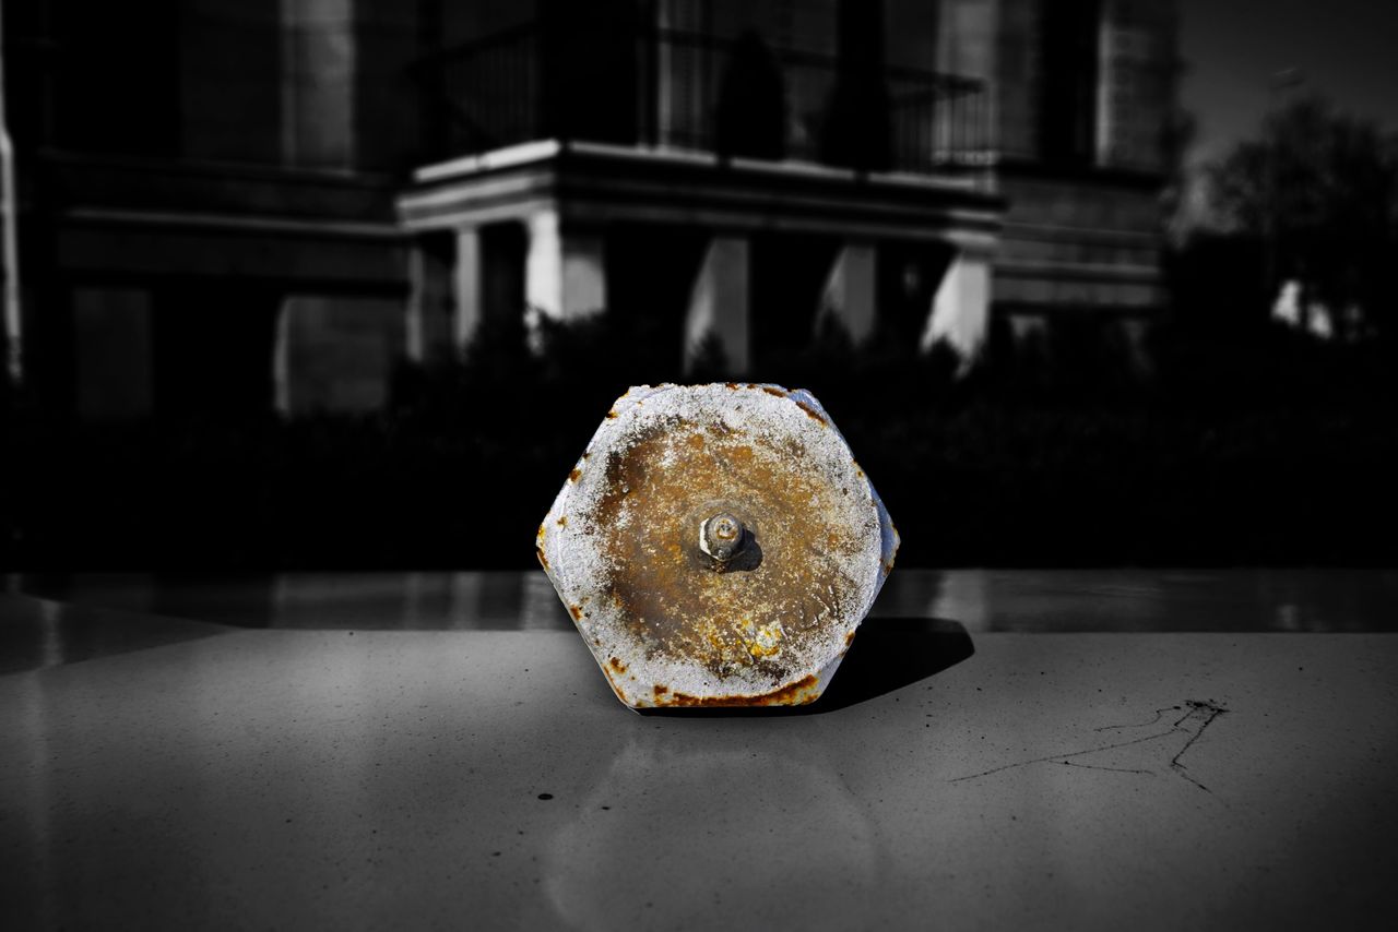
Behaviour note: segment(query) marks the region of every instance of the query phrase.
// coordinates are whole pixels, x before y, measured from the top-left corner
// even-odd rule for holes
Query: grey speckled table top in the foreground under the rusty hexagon
[[[0,675],[6,928],[1398,917],[1390,633],[874,618],[804,714],[639,715],[566,630],[25,625],[140,634]]]

